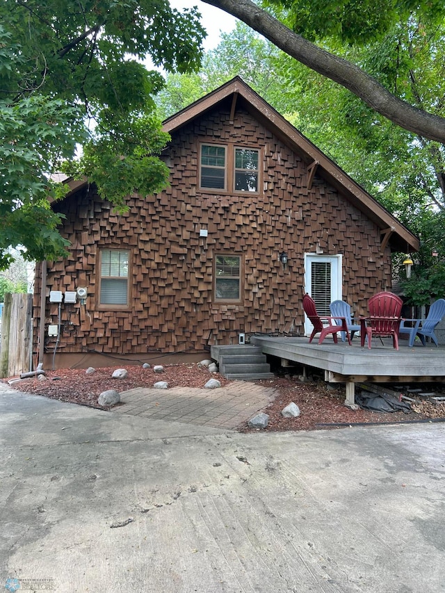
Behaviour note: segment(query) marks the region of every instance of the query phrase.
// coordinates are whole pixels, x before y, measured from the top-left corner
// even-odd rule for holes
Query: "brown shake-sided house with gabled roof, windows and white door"
[[[238,335],[304,335],[302,295],[355,314],[418,241],[236,77],[164,122],[170,186],[113,213],[67,181],[70,257],[37,266],[35,349],[56,365],[199,359]],[[44,284],[42,291],[42,282]]]

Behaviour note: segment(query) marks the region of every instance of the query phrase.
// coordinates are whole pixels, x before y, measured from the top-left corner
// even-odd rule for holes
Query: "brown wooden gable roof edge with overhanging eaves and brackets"
[[[174,133],[181,127],[214,109],[222,101],[231,101],[231,119],[239,104],[275,136],[299,154],[307,163],[307,184],[317,174],[336,188],[359,211],[362,211],[380,229],[382,247],[389,243],[391,251],[412,252],[419,250],[419,239],[401,224],[382,204],[377,202],[362,186],[351,179],[334,161],[318,149],[308,138],[290,124],[280,113],[248,86],[239,76],[223,84],[188,107],[178,111],[163,122],[163,129]]]

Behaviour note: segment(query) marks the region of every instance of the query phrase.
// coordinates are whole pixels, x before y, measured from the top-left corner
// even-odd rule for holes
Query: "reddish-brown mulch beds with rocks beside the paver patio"
[[[116,368],[126,368],[128,377],[113,379],[111,375]],[[65,368],[48,371],[46,380],[37,377],[10,383],[10,387],[27,393],[57,400],[101,408],[97,404],[99,393],[107,389],[115,389],[122,393],[136,387],[152,388],[157,381],[166,381],[169,388],[204,387],[210,378],[218,379],[222,386],[229,383],[218,373],[209,373],[207,368],[198,364],[165,365],[163,373],[154,373],[153,367],[121,366],[97,368],[94,373],[87,374],[85,368]],[[13,377],[10,377],[13,378]],[[3,380],[8,381],[8,380]],[[425,419],[445,419],[445,404],[433,405],[418,402],[413,407],[416,411],[410,414],[403,412],[371,412],[346,408],[345,388],[343,385],[327,386],[316,378],[309,382],[300,382],[298,375],[278,372],[269,380],[257,381],[264,387],[273,387],[277,391],[275,400],[264,409],[269,415],[266,431],[317,430],[326,428],[344,428],[357,423],[395,423],[402,421],[418,421]],[[289,403],[296,403],[300,408],[300,416],[286,419],[281,412]],[[238,427],[241,432],[249,432],[247,423]],[[256,430],[256,429],[255,429]]]

